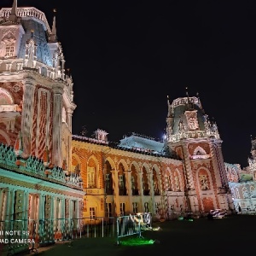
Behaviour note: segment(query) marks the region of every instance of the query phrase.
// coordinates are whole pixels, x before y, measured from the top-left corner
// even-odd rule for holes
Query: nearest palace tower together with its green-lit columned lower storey
[[[55,18],[50,28],[44,13],[16,1],[0,10],[0,230],[32,236],[34,220],[82,216],[81,179],[67,171],[76,105],[64,64]],[[44,229],[53,240],[62,227]]]

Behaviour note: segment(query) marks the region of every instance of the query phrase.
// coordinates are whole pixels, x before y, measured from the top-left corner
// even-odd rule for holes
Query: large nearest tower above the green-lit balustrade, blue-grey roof
[[[50,28],[44,13],[14,0],[0,11],[0,142],[69,170],[75,108],[55,16]]]

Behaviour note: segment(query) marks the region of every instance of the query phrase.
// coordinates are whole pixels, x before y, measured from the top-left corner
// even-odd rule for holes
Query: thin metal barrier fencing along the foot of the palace
[[[138,234],[151,228],[151,213],[138,213],[122,217],[98,218],[44,218],[0,221],[0,245],[15,252],[20,244],[34,250],[55,241],[67,241],[81,237],[113,237]],[[9,253],[13,255],[15,253]]]

